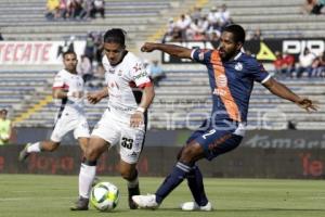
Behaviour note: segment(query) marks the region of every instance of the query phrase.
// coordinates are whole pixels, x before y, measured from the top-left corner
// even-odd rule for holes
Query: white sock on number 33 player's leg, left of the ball
[[[89,199],[91,184],[96,175],[96,166],[81,164],[79,173],[79,195]]]

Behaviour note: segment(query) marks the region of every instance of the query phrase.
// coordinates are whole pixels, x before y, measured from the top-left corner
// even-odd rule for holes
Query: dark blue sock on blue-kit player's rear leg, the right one
[[[191,171],[187,174],[187,184],[194,197],[194,201],[199,206],[205,206],[208,203],[208,199],[205,192],[203,183],[203,176],[197,166],[193,166]]]

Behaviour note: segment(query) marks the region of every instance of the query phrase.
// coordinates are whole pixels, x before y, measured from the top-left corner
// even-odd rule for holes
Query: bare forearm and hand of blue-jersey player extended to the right
[[[308,98],[300,98],[295,92],[292,92],[285,85],[278,82],[277,80],[270,78],[266,82],[263,84],[273,94],[281,97],[285,100],[289,100],[307,112],[316,111],[317,106],[313,101]]]

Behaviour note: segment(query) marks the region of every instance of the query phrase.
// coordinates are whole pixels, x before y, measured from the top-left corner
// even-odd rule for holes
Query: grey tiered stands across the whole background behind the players
[[[135,50],[136,42],[154,40],[152,36],[165,27],[169,17],[178,17],[182,10],[190,10],[196,1],[186,1],[186,4],[184,2],[106,1],[105,20],[49,22],[44,18],[46,3],[42,0],[4,0],[0,2],[0,27],[5,40],[62,40],[70,35],[82,38],[90,30],[102,31],[110,27],[122,27],[129,33],[131,50]],[[216,2],[209,1],[203,10],[204,13]],[[300,0],[218,1],[218,4],[222,3],[227,4],[235,22],[251,31],[259,27],[264,36],[323,37],[325,35],[325,17],[301,15]],[[168,76],[156,89],[155,102],[150,111],[151,128],[195,128],[211,107],[209,86],[204,69],[196,66],[191,67],[190,71],[185,66],[164,67],[167,68]],[[1,69],[0,103],[14,111],[15,126],[52,127],[57,107],[47,97],[51,94],[55,72],[39,68],[16,69],[14,66],[8,68]],[[284,82],[298,93],[317,100],[321,107],[325,105],[324,79],[284,79]],[[89,87],[90,91],[93,89]],[[43,104],[46,106],[42,106]],[[91,126],[100,118],[105,107],[106,102],[95,106],[87,105]],[[22,115],[30,108],[34,111],[30,116],[22,118]],[[250,101],[249,127],[284,128],[288,120],[297,123],[297,129],[325,129],[324,110],[307,114],[296,105],[268,94],[268,90],[257,85]]]

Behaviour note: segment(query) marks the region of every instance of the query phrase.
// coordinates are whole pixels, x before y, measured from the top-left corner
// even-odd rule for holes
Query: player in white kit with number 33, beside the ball
[[[145,115],[155,95],[154,87],[142,62],[126,50],[122,29],[106,31],[104,52],[107,87],[89,94],[88,100],[98,103],[108,97],[108,106],[92,131],[79,174],[79,199],[72,210],[88,209],[96,162],[107,148],[115,145],[118,145],[120,155],[120,174],[128,182],[129,207],[138,208],[132,201],[132,195],[140,194],[135,166],[143,148]],[[138,92],[134,92],[134,88],[138,88]],[[142,91],[139,92],[139,89]]]

